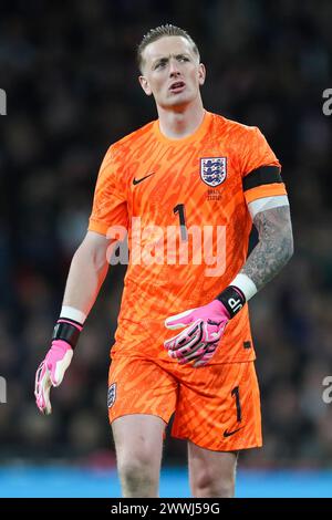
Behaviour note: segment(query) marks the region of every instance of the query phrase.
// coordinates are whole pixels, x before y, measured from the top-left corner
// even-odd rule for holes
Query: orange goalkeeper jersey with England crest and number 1
[[[210,302],[240,271],[252,225],[248,204],[286,195],[279,169],[257,127],[209,112],[188,137],[169,139],[155,121],[110,147],[89,230],[110,238],[127,230],[114,352],[167,356],[163,343],[176,332],[165,319]],[[210,363],[253,358],[245,305]]]

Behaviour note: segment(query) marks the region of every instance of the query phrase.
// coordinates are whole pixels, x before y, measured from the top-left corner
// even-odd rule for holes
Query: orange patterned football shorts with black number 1
[[[253,362],[193,368],[168,357],[113,356],[111,423],[123,415],[149,414],[167,424],[174,413],[173,437],[216,451],[260,447],[260,397]]]

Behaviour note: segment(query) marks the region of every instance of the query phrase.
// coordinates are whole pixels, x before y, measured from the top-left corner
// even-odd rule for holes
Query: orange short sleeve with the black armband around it
[[[241,174],[247,204],[262,197],[287,195],[281,165],[266,137],[257,127],[249,127],[242,137]]]

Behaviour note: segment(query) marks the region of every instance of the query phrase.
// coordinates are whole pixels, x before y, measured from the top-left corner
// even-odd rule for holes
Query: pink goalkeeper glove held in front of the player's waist
[[[165,341],[169,357],[180,365],[193,362],[194,367],[206,365],[214,356],[228,321],[246,303],[241,291],[229,285],[217,300],[167,318],[167,329],[187,326],[178,335]]]

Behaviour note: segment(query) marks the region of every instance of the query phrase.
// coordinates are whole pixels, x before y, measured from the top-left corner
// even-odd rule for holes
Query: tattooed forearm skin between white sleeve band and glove
[[[261,289],[288,262],[293,253],[293,237],[288,206],[268,209],[253,219],[259,242],[247,259],[241,273]]]

